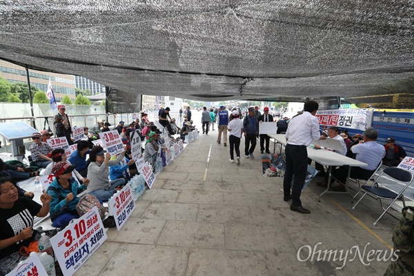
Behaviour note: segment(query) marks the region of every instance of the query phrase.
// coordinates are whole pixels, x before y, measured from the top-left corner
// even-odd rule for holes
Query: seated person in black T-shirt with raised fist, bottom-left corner
[[[34,216],[46,217],[51,199],[50,195],[43,193],[41,206],[28,197],[19,197],[15,180],[12,177],[0,178],[0,275],[10,273],[26,259],[19,250],[35,242],[38,233],[32,228]]]

